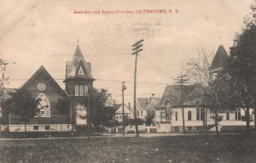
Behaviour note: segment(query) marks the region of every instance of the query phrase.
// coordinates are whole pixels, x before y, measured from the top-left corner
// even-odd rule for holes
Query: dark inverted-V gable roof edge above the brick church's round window
[[[30,85],[31,82],[33,82],[35,79],[38,78],[39,74],[43,72],[44,75],[49,79],[49,81],[56,87],[56,89],[65,97],[68,98],[68,94],[63,91],[63,89],[60,87],[60,85],[55,82],[54,78],[49,75],[49,72],[44,68],[43,65],[32,75],[32,77],[22,86],[20,89],[26,89],[27,86]]]

